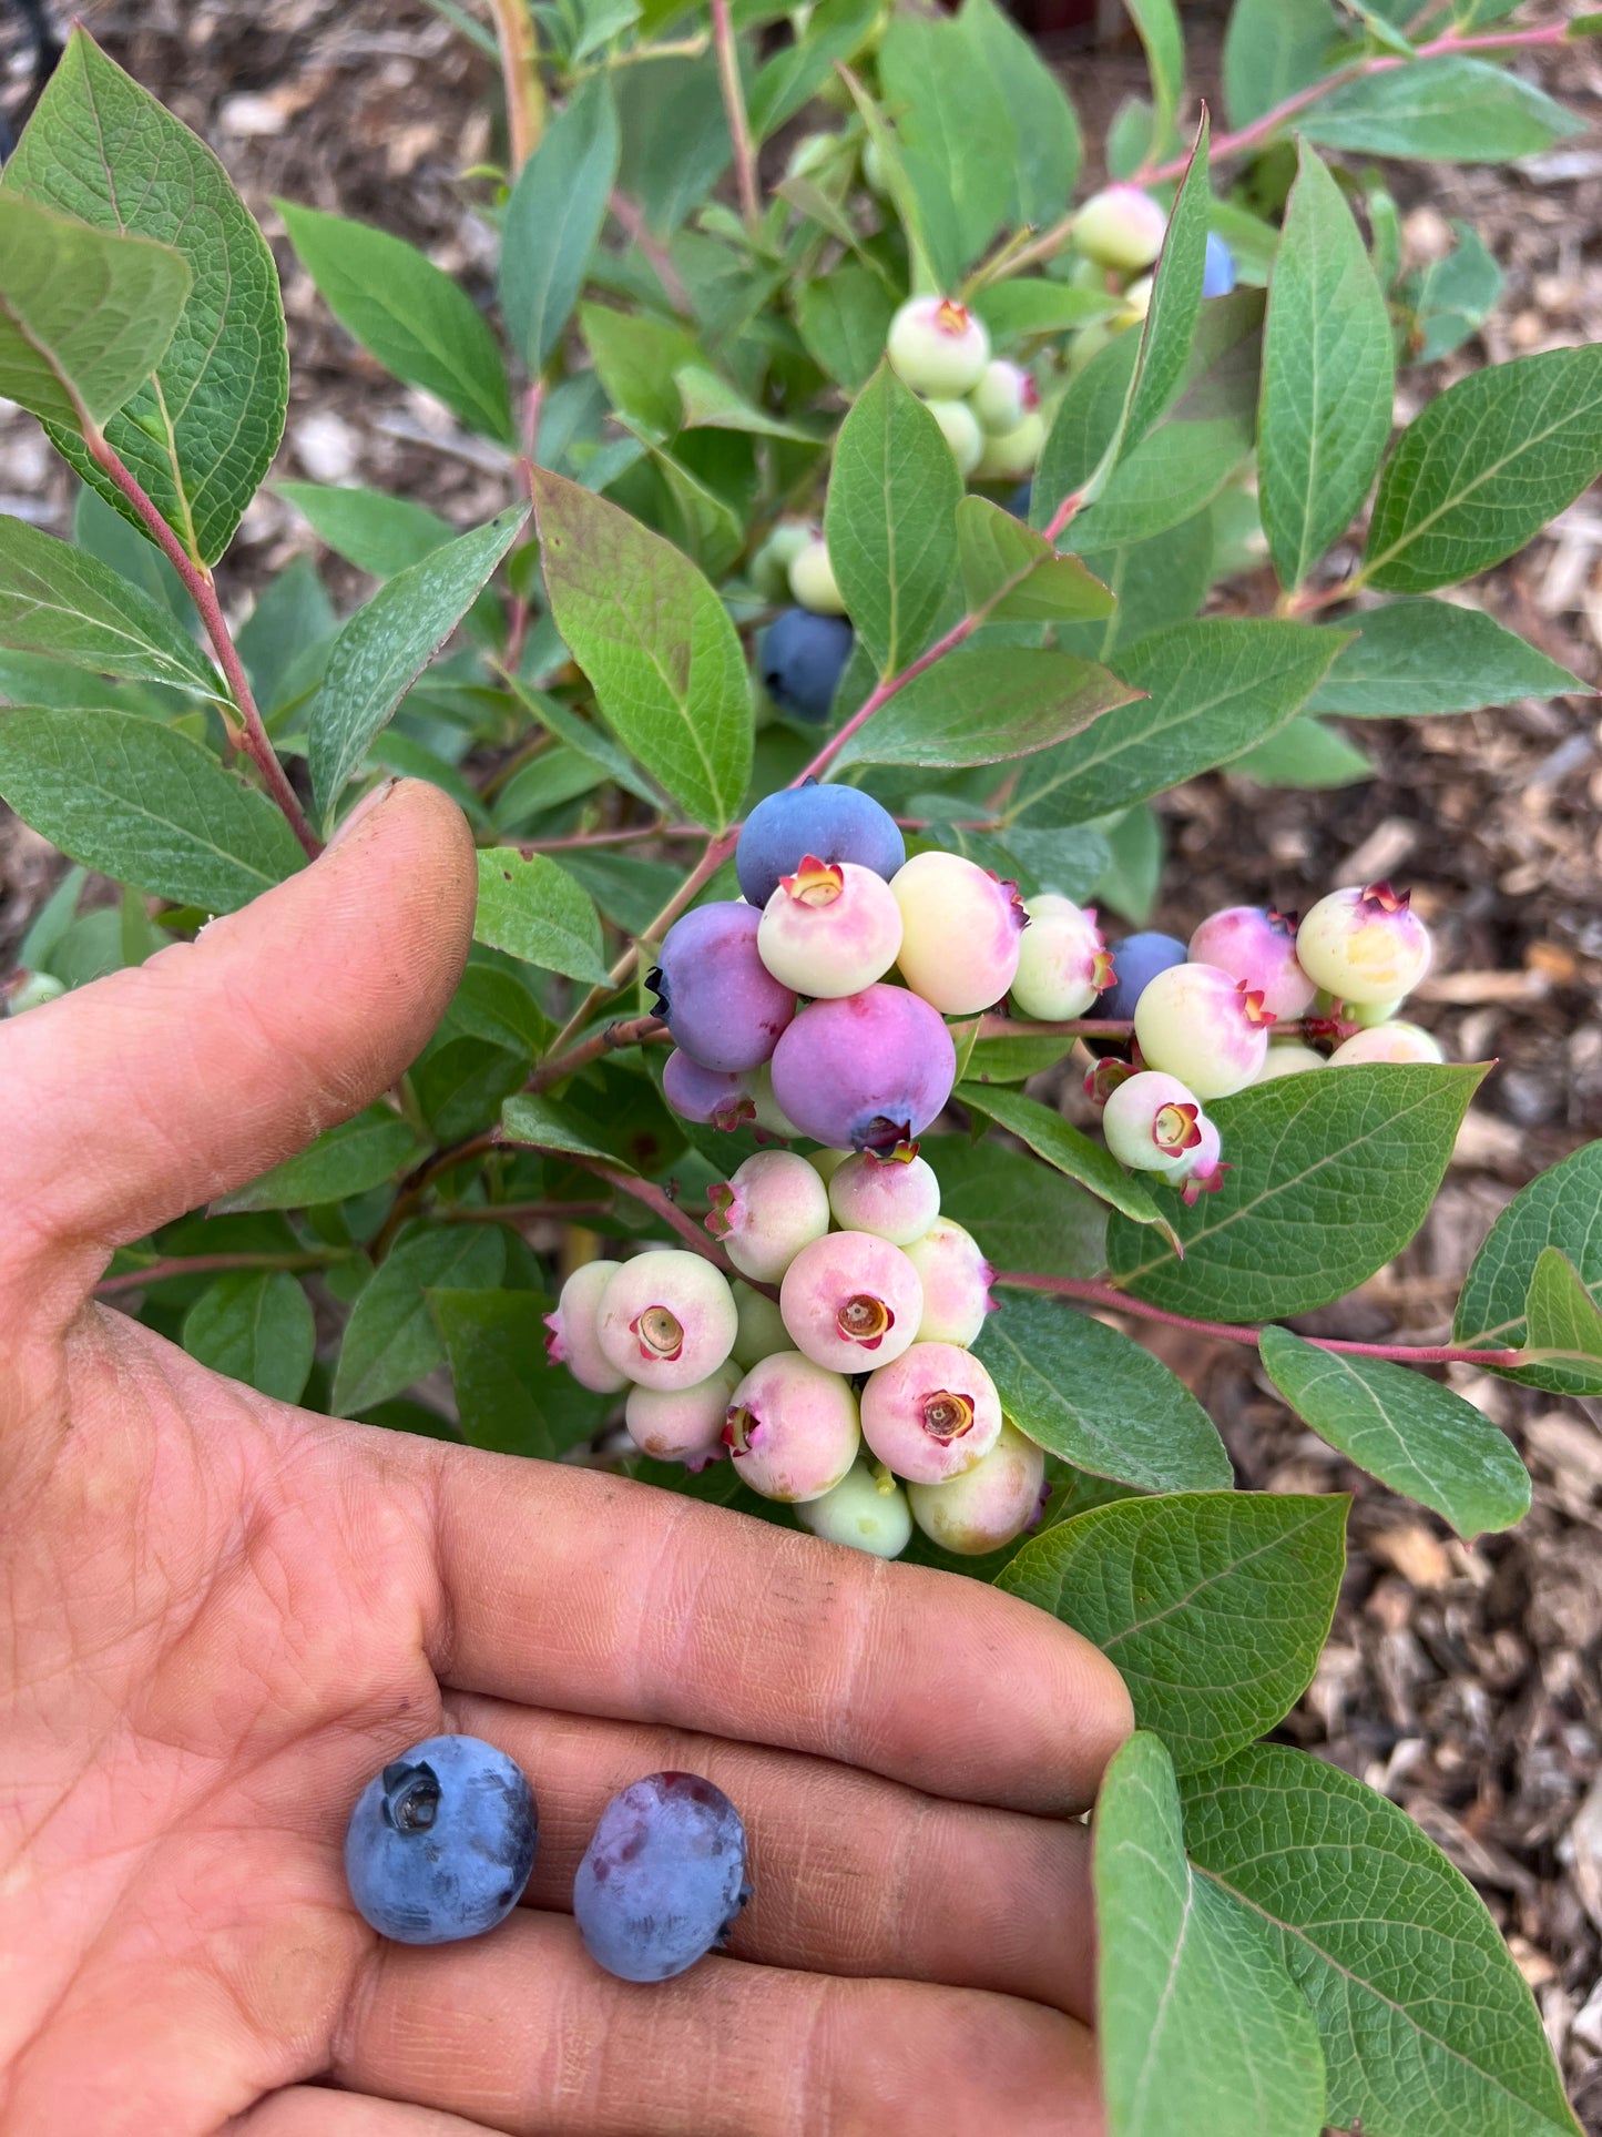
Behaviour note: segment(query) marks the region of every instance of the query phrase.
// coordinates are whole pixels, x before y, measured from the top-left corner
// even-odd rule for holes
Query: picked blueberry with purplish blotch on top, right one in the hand
[[[745,1827],[698,1774],[647,1774],[600,1812],[572,1881],[590,1957],[619,1981],[671,1981],[728,1938],[750,1900]]]

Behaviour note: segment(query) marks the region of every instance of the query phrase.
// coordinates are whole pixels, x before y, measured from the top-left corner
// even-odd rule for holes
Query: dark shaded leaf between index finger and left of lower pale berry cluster
[[[600,1430],[615,1398],[592,1395],[545,1355],[540,1316],[549,1299],[536,1291],[446,1289],[431,1289],[427,1299],[470,1447],[555,1462]]]

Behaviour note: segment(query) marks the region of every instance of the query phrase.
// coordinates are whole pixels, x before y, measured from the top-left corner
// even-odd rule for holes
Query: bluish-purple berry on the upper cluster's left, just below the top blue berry
[[[760,912],[733,900],[696,906],[669,927],[645,979],[673,1045],[703,1068],[756,1068],[795,1017],[795,992],[756,951],[760,923]]]

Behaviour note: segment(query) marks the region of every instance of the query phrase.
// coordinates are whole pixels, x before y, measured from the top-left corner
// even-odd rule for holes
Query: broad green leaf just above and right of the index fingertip
[[[998,1586],[1094,1639],[1124,1673],[1136,1722],[1196,1774],[1273,1729],[1312,1684],[1348,1504],[1290,1492],[1121,1498],[1025,1543]]]

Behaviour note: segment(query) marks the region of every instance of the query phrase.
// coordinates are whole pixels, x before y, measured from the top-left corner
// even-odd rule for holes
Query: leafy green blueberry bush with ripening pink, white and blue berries
[[[1598,1143],[1491,1229],[1450,1344],[1286,1325],[1401,1252],[1489,1073],[1399,1015],[1405,887],[1145,932],[1177,782],[1341,784],[1363,720],[1583,688],[1442,596],[1602,472],[1602,350],[1393,436],[1397,368],[1497,269],[1463,227],[1403,271],[1384,162],[1572,132],[1517,64],[1596,19],[1237,0],[1209,115],[1173,0],[1130,0],[1149,96],[1083,199],[993,0],[498,13],[496,308],[280,203],[340,325],[506,472],[466,532],[282,483],[376,583],[344,618],[305,558],[224,611],[288,357],[218,160],[79,30],[0,184],[0,391],[81,477],[70,543],[0,519],[0,793],[75,863],[11,1011],[252,900],[393,774],[478,838],[472,960],[391,1101],[103,1293],[273,1395],[609,1462],[1098,1641],[1141,1722],[1096,1812],[1115,2137],[1574,2131],[1470,1885],[1269,1740],[1346,1502],[1232,1489],[1126,1329],[1256,1346],[1465,1539],[1529,1485],[1433,1368],[1602,1395]],[[88,870],[120,908],[79,910]]]

